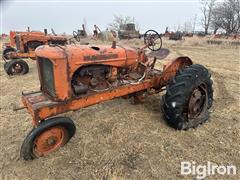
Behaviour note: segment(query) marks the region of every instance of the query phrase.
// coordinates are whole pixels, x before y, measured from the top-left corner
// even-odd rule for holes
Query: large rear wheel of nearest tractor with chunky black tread
[[[167,85],[163,112],[172,127],[187,130],[208,119],[208,109],[213,101],[210,77],[204,66],[193,64],[179,71]]]

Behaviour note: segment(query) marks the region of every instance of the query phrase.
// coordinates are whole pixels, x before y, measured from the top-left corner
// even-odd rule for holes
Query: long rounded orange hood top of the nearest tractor
[[[134,56],[134,58],[137,58],[136,49],[119,46],[112,48],[110,45],[43,45],[35,50],[36,55],[39,57],[68,59],[70,61],[73,59],[80,61],[95,61],[103,60],[104,58],[124,59],[126,58],[127,52],[130,53],[131,56]]]

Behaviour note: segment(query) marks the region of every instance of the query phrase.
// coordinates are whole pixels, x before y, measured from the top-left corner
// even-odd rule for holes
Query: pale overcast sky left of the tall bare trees
[[[88,32],[92,32],[94,24],[105,30],[114,15],[134,17],[141,32],[148,29],[164,32],[167,26],[170,31],[175,31],[179,25],[191,21],[197,15],[196,30],[201,30],[199,0],[0,1],[3,33],[10,30],[24,31],[27,26],[31,30],[43,31],[47,28],[50,31],[53,28],[56,33],[72,33],[73,30],[81,29],[84,22]]]

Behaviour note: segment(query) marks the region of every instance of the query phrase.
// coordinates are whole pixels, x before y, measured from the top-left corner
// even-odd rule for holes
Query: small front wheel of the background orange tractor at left
[[[6,62],[4,69],[8,75],[23,75],[29,71],[28,64],[23,60],[11,60]]]

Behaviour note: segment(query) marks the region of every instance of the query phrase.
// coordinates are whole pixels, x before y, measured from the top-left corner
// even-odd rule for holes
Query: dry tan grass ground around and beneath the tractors
[[[142,40],[121,44],[140,47]],[[75,136],[59,151],[28,162],[19,152],[32,128],[31,117],[26,110],[14,112],[12,106],[20,104],[22,91],[39,89],[37,67],[27,60],[27,75],[9,77],[1,61],[0,179],[195,179],[180,175],[181,161],[235,165],[235,176],[206,179],[240,179],[239,46],[187,38],[164,39],[163,47],[171,51],[166,59],[186,55],[210,70],[214,104],[208,122],[189,131],[169,127],[161,111],[165,92],[139,105],[114,99],[64,114],[76,123]],[[158,61],[157,67],[166,61]]]

